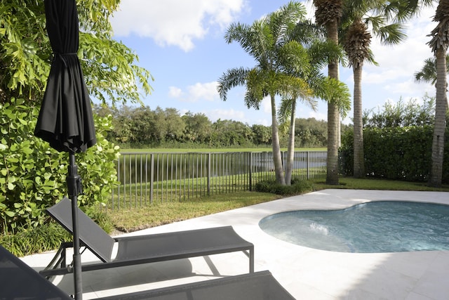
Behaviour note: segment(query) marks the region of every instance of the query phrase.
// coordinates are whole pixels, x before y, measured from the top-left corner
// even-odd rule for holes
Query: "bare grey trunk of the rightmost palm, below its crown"
[[[444,131],[446,126],[445,113],[448,109],[448,99],[446,96],[446,50],[447,46],[436,49],[436,103],[435,103],[435,126],[434,138],[432,141],[432,164],[429,185],[432,187],[441,186],[443,174],[444,155]]]

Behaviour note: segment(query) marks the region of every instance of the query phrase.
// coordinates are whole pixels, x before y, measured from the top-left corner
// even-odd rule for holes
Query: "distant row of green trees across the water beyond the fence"
[[[271,126],[247,124],[232,119],[212,122],[201,112],[180,112],[168,107],[112,107],[95,105],[100,117],[112,115],[113,129],[107,139],[121,148],[262,148],[271,147]],[[348,126],[344,126],[344,130]],[[281,146],[288,144],[288,126],[280,126]],[[320,148],[327,145],[327,122],[296,119],[295,146]]]

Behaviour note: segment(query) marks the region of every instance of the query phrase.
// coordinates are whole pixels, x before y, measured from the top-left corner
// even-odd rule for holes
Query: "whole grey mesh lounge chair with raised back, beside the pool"
[[[46,211],[72,233],[70,201],[65,197]],[[254,245],[237,235],[232,226],[112,238],[81,209],[78,216],[80,244],[90,249],[102,261],[83,265],[83,272],[238,251],[249,256],[249,271],[254,272]],[[113,258],[112,249],[115,243],[118,243],[118,252]],[[41,275],[51,277],[72,273],[72,267],[66,263],[66,250],[69,247],[72,247],[71,242],[62,244],[47,268],[41,270]]]

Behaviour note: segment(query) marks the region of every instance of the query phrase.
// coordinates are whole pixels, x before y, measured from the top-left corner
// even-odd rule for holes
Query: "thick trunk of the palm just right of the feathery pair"
[[[328,40],[338,44],[337,20],[328,22]],[[338,61],[329,63],[328,76],[338,80]],[[326,165],[326,183],[337,185],[338,181],[338,122],[339,110],[335,103],[328,102],[328,159]]]

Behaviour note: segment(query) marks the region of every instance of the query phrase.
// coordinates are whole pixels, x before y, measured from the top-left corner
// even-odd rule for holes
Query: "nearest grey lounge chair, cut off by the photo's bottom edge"
[[[0,299],[73,300],[0,246]],[[100,298],[123,300],[294,300],[269,271]]]

